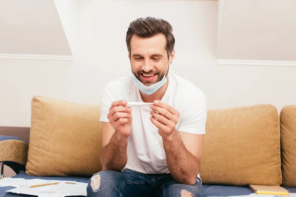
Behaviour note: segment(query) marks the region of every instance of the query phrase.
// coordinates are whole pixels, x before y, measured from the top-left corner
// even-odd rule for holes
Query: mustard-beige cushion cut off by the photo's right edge
[[[296,187],[296,105],[281,110],[283,186]]]

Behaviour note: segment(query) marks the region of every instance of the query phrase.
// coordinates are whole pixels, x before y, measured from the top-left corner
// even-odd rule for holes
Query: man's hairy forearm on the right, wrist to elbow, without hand
[[[176,181],[194,185],[199,173],[199,161],[186,148],[176,131],[170,139],[163,139],[167,165]]]

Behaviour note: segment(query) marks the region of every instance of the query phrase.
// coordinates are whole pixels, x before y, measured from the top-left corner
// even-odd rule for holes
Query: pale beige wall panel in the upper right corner
[[[296,0],[223,2],[218,59],[296,61]]]

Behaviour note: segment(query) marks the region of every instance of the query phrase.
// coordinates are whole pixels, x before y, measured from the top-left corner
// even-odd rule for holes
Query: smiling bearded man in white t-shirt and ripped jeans
[[[204,196],[199,178],[206,97],[169,72],[175,56],[172,26],[138,18],[126,33],[132,75],[104,88],[103,171],[89,181],[89,197]],[[127,107],[129,102],[152,105]]]

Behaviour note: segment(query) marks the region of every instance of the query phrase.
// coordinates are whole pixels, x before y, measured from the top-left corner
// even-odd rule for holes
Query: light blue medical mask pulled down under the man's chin
[[[132,81],[139,88],[139,90],[141,90],[144,94],[152,95],[153,93],[155,93],[159,88],[161,88],[166,83],[167,80],[166,80],[165,75],[168,71],[169,65],[170,65],[170,58],[169,58],[169,63],[168,63],[168,66],[167,66],[167,69],[165,71],[163,78],[160,81],[158,81],[157,83],[154,83],[150,86],[146,86],[141,81],[139,81],[139,79],[137,79],[137,77],[134,75],[133,71],[132,71],[132,73],[133,73]]]

